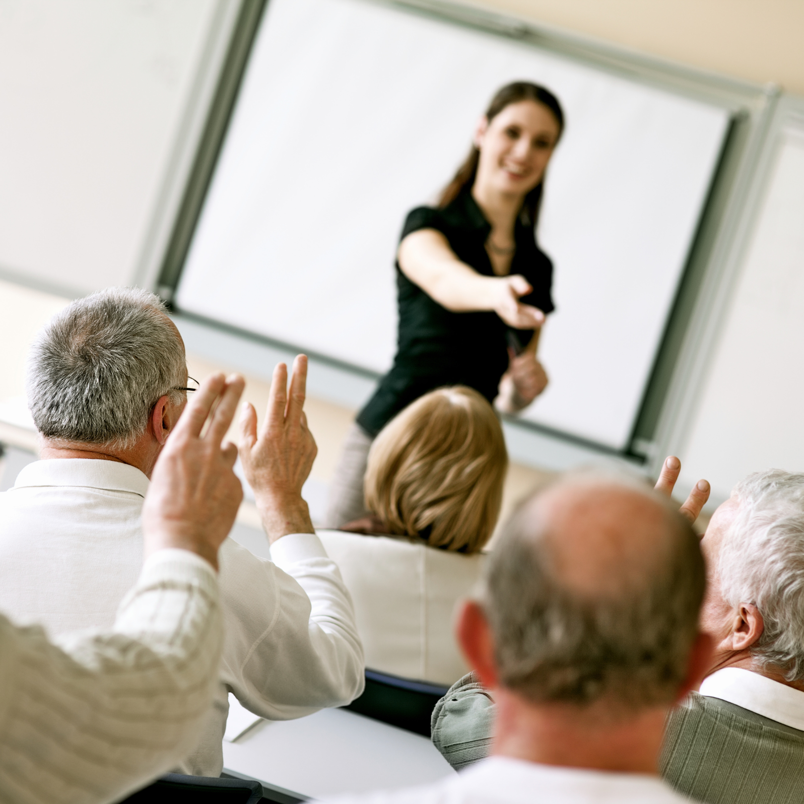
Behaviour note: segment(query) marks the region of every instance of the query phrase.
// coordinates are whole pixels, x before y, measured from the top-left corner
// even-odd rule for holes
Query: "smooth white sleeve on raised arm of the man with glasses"
[[[232,539],[221,551],[224,683],[269,720],[350,703],[365,683],[363,646],[338,567],[314,533],[283,536],[271,556]]]

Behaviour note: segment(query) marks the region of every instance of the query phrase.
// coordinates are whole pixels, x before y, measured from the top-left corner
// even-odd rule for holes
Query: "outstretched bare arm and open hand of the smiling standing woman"
[[[508,326],[520,330],[544,323],[541,310],[519,301],[533,290],[525,277],[482,276],[457,258],[436,229],[419,229],[404,237],[397,258],[402,273],[447,310],[494,310]]]

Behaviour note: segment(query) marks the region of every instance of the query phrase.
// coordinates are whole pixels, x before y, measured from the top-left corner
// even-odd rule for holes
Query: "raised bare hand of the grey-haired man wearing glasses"
[[[240,462],[272,543],[289,533],[315,532],[307,503],[301,498],[301,486],[318,452],[303,410],[305,355],[293,361],[289,392],[287,380],[288,368],[279,363],[273,370],[268,409],[259,434],[252,404],[244,404],[240,417]]]

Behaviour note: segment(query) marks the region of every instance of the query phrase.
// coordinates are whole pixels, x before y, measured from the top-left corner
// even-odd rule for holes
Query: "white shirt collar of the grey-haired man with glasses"
[[[59,457],[34,461],[17,475],[14,488],[25,486],[88,486],[129,491],[145,497],[150,481],[136,466],[97,458]]]

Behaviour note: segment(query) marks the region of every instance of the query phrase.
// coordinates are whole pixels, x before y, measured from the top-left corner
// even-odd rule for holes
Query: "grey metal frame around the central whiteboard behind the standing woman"
[[[589,459],[608,456],[615,460],[628,461],[634,466],[642,466],[642,470],[654,474],[661,465],[662,457],[675,451],[677,445],[683,443],[684,425],[706,370],[706,355],[724,319],[730,298],[728,289],[738,269],[740,249],[745,247],[745,215],[751,207],[753,183],[757,172],[765,165],[763,151],[779,95],[777,88],[687,68],[553,27],[444,0],[361,2],[491,33],[518,43],[528,43],[540,50],[614,76],[718,105],[730,113],[732,125],[687,256],[687,265],[683,269],[654,366],[646,381],[629,447],[624,451],[617,451],[531,421],[511,419],[506,423],[510,446],[516,439],[523,442],[523,447],[528,443],[532,445],[525,447],[519,457],[516,455],[519,450],[512,450],[511,457],[515,459],[538,466],[544,466],[547,461],[555,468],[564,468],[580,461],[583,456]],[[267,4],[268,0],[242,0],[240,5],[240,15],[232,34],[228,56],[195,153],[195,162],[184,190],[183,201],[174,219],[173,232],[164,251],[162,268],[158,280],[150,284],[168,303],[173,301],[174,291],[187,259],[204,198],[236,105],[252,43]],[[176,313],[177,323],[184,321],[189,330],[195,332],[198,332],[199,325],[208,327],[219,332],[232,346],[235,343],[240,343],[243,347],[250,344],[252,348],[261,345],[269,352],[277,354],[289,354],[294,349],[292,344],[237,330],[212,319],[183,314],[181,310],[176,310]],[[209,339],[202,340],[208,347]],[[231,354],[231,349],[229,353]],[[311,354],[310,357],[314,363],[334,370],[336,374],[342,372],[359,381],[357,386],[351,382],[351,386],[363,389],[349,398],[352,407],[362,404],[366,381],[379,379],[379,374],[327,355]],[[331,376],[331,371],[329,373]],[[344,387],[349,387],[348,377],[344,376],[343,379],[346,382]],[[320,396],[334,397],[340,404],[347,402],[349,396],[340,391],[329,395],[326,388],[318,389],[318,393]],[[549,457],[550,454],[553,457]]]

